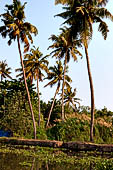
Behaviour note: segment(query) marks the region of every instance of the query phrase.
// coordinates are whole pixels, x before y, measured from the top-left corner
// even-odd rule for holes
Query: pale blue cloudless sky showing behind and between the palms
[[[25,2],[24,0],[22,2]],[[51,45],[48,38],[51,34],[59,34],[62,19],[54,17],[60,13],[62,8],[60,5],[55,6],[54,0],[26,0],[25,8],[26,21],[32,23],[38,28],[38,36],[33,37],[34,45],[40,47],[41,52],[46,55],[49,53],[47,48]],[[11,0],[7,0],[10,4]],[[0,13],[4,12],[5,1],[0,1]],[[109,0],[106,7],[113,13],[113,1]],[[113,23],[107,21],[110,32],[105,41],[101,33],[98,32],[98,25],[94,25],[93,39],[89,44],[89,56],[91,63],[91,72],[95,90],[95,107],[98,109],[106,106],[113,111]],[[1,23],[0,23],[1,24]],[[15,68],[20,67],[20,58],[16,41],[9,47],[7,40],[0,37],[0,60],[7,60],[8,65],[12,68],[12,76],[15,77]],[[22,48],[23,49],[23,48]],[[87,66],[85,60],[84,49],[81,49],[83,58],[78,57],[78,62],[73,60],[69,63],[69,75],[73,82],[72,87],[77,88],[77,97],[82,102],[81,105],[90,106],[90,89],[87,75]],[[49,59],[50,65],[55,63],[55,60]],[[53,88],[44,88],[45,83],[40,83],[41,99],[48,101],[53,97],[55,86]]]

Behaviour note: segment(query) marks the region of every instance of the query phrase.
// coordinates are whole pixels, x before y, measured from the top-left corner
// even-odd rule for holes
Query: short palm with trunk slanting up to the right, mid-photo
[[[61,86],[61,81],[63,81],[63,75],[64,75],[64,71],[63,71],[63,66],[61,61],[56,61],[56,66],[54,67],[49,67],[49,72],[48,72],[48,76],[45,79],[50,80],[50,82],[48,84],[46,84],[44,87],[50,86],[53,87],[53,85],[57,84],[57,88],[56,88],[56,92],[53,98],[53,102],[51,105],[51,109],[49,112],[49,116],[48,116],[48,120],[47,120],[47,125],[46,127],[48,127],[49,125],[49,121],[50,121],[50,116],[54,107],[54,103],[55,103],[55,99],[56,99],[56,95],[59,92],[60,86]],[[67,72],[68,67],[66,67],[66,72]],[[65,84],[67,87],[69,87],[69,82],[72,82],[71,78],[68,75],[65,75]]]

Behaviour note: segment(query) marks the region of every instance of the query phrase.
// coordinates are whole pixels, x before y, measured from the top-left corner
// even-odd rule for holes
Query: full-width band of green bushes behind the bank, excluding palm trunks
[[[38,96],[33,85],[28,81],[31,101],[37,124],[37,138],[63,141],[89,141],[90,108],[81,106],[76,112],[71,105],[65,105],[65,121],[61,121],[61,102],[55,100],[50,118],[50,126],[46,129],[48,114],[52,100],[41,101],[41,126],[38,127]],[[0,82],[0,129],[11,131],[14,137],[33,137],[32,118],[23,82]],[[94,141],[97,143],[113,143],[113,112],[107,108],[95,110]]]

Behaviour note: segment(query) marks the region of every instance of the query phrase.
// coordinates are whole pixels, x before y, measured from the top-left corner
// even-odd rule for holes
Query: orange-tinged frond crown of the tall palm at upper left
[[[1,21],[4,25],[0,27],[2,37],[9,36],[9,45],[19,35],[19,38],[24,43],[24,52],[29,49],[28,39],[30,39],[31,43],[33,42],[31,33],[37,35],[36,27],[29,22],[25,22],[25,4],[21,5],[20,1],[15,0],[12,5],[6,5],[6,13],[1,14]]]

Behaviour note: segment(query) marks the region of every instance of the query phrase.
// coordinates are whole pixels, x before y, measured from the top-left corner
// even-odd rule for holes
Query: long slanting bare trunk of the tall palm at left
[[[31,111],[31,115],[32,115],[32,120],[33,120],[34,138],[36,139],[36,124],[35,124],[35,118],[34,118],[33,108],[32,108],[31,99],[30,99],[30,94],[29,94],[29,90],[28,90],[28,86],[27,86],[27,81],[26,81],[26,75],[25,75],[25,70],[24,70],[24,63],[23,63],[22,54],[21,54],[21,49],[20,49],[19,35],[17,36],[17,43],[18,43],[18,50],[19,50],[19,54],[20,54],[20,60],[21,60],[22,70],[23,70],[23,76],[24,76],[24,81],[25,81],[26,92],[27,92],[27,95],[28,95],[29,107],[30,107],[30,111]]]

